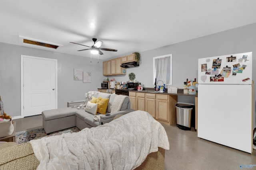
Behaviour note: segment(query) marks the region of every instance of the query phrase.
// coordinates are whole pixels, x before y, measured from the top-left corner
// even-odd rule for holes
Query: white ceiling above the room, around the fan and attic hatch
[[[97,38],[118,49],[102,51],[104,60],[255,22],[256,0],[0,0],[0,42],[23,45],[23,36],[90,57],[69,42]]]

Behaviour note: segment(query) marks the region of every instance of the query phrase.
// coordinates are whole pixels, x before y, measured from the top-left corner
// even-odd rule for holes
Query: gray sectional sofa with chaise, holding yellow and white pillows
[[[84,109],[77,109],[73,107],[84,104],[84,100],[71,101],[68,102],[68,107],[66,108],[42,111],[43,127],[45,132],[48,134],[75,126],[80,130],[86,127],[96,127],[112,121],[116,115],[134,111],[134,109],[131,109],[130,98],[128,96],[124,99],[120,111],[115,111],[113,113],[111,113],[112,104],[114,98],[118,96],[117,94],[95,92],[93,96],[95,98],[109,98],[107,113],[105,115],[97,113],[97,115],[100,115],[100,121],[94,120],[94,114],[89,113]]]

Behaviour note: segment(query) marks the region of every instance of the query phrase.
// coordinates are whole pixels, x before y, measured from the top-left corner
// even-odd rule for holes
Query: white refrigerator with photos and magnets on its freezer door
[[[198,137],[252,153],[252,52],[198,59]]]

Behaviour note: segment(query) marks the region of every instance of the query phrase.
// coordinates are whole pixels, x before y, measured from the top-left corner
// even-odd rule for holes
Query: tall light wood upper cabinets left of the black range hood
[[[126,74],[126,68],[120,67],[121,57],[103,62],[103,76]]]

